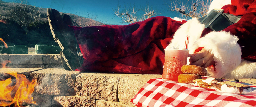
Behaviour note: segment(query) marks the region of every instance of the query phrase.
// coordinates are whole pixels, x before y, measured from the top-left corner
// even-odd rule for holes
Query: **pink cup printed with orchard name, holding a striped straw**
[[[165,49],[165,60],[163,67],[163,79],[178,81],[179,74],[182,74],[181,67],[187,64],[189,50]]]

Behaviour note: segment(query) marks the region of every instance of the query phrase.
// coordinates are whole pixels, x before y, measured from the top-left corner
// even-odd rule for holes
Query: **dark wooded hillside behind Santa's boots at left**
[[[47,8],[27,4],[8,3],[0,0],[0,38],[8,46],[26,45],[35,47],[36,44],[58,46],[51,34],[47,19]],[[73,19],[73,26],[106,25],[79,15],[66,14]],[[3,43],[0,42],[0,45],[3,45]]]

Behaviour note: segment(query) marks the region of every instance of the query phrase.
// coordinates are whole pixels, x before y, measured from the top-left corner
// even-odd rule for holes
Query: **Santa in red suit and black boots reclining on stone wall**
[[[239,17],[220,31],[195,18],[184,21],[159,16],[124,26],[81,28],[72,26],[68,15],[49,8],[48,19],[54,40],[63,50],[66,69],[162,74],[164,49],[185,45],[189,36],[190,64],[207,68],[213,77],[256,78],[255,4],[254,0],[213,0],[208,13],[222,9],[221,14]],[[80,51],[82,63],[77,55]]]

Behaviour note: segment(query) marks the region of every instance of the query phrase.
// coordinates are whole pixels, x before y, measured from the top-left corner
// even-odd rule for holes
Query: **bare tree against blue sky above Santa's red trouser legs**
[[[133,5],[130,4],[128,7],[125,3],[123,7],[117,4],[117,8],[113,9],[113,12],[116,17],[119,17],[122,20],[121,23],[135,23],[158,15],[158,13],[149,6],[149,3],[145,8],[138,8],[135,6],[135,3]]]

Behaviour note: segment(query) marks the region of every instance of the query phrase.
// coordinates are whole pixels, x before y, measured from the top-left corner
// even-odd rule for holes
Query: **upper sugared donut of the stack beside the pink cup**
[[[200,76],[206,76],[207,70],[204,67],[196,66],[196,65],[183,65],[181,67],[181,72],[187,74],[197,74]]]

